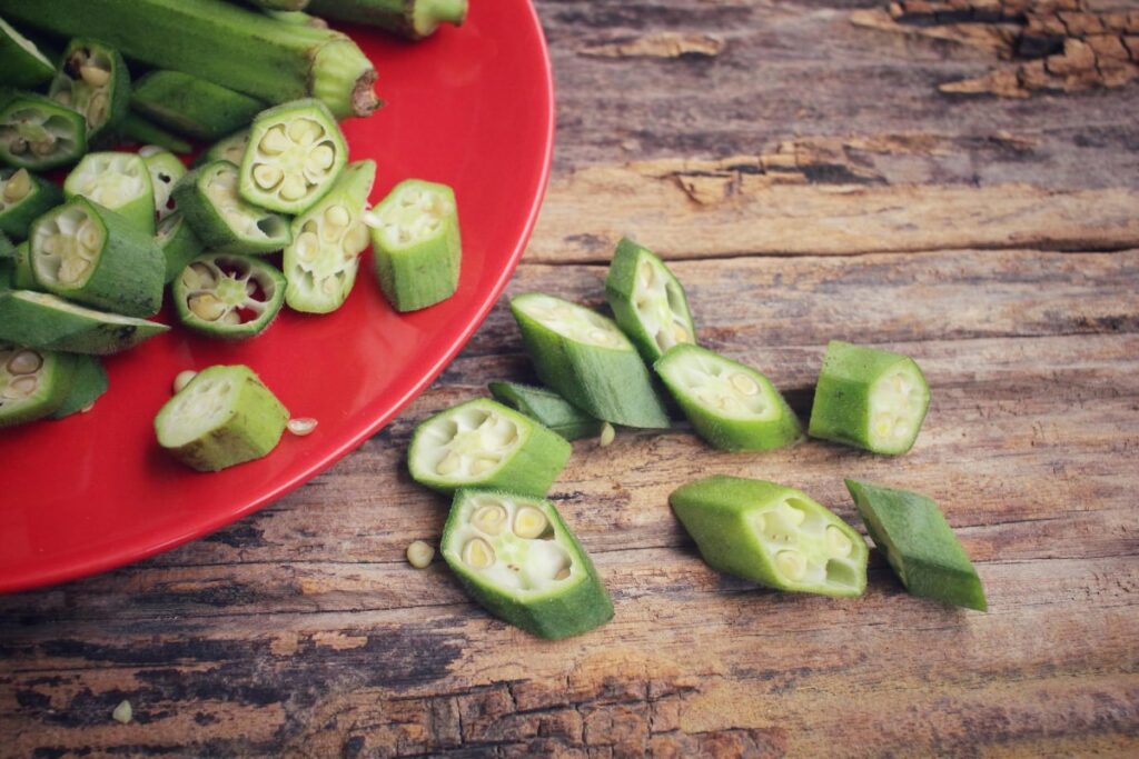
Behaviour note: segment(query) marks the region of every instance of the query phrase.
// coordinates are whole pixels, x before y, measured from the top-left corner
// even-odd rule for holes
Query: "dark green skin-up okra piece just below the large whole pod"
[[[131,92],[131,108],[196,140],[231,134],[264,107],[263,100],[175,71],[150,72]]]

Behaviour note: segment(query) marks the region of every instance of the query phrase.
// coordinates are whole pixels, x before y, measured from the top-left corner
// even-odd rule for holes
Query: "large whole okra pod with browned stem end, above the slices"
[[[376,69],[345,34],[282,24],[216,0],[5,0],[5,13],[62,36],[90,35],[154,68],[186,72],[267,102],[314,97],[337,118],[379,106]]]

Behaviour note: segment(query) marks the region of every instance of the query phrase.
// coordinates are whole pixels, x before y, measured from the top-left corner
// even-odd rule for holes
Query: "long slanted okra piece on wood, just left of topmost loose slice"
[[[669,427],[645,362],[613,320],[541,292],[519,295],[510,311],[538,377],[566,401],[616,424]]]

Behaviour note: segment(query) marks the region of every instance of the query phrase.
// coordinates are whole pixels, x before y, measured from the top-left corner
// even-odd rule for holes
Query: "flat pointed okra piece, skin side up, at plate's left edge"
[[[47,292],[0,292],[0,340],[14,345],[109,355],[167,331],[158,322],[87,308]]]

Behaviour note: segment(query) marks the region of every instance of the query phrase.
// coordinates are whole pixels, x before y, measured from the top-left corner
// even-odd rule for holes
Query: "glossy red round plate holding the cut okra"
[[[107,360],[87,413],[0,439],[0,592],[58,583],[200,537],[279,498],[359,446],[451,361],[498,299],[533,228],[554,147],[554,90],[528,0],[472,2],[461,28],[417,44],[353,28],[387,106],[345,123],[353,158],[379,165],[374,203],[416,176],[454,188],[462,277],[451,299],[398,315],[361,262],[334,314],[282,312],[263,336],[220,345],[173,330]],[[153,420],[183,369],[248,364],[294,416],[268,457],[215,475],[169,460]]]

